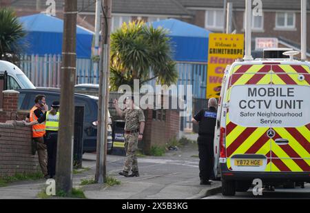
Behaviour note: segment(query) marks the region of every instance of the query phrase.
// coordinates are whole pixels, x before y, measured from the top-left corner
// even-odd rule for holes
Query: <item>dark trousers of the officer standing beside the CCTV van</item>
[[[202,181],[209,181],[213,172],[214,136],[198,136],[198,152],[199,152],[199,177]]]

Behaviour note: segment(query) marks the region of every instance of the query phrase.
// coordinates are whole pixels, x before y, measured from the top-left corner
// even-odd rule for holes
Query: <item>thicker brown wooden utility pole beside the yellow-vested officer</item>
[[[76,0],[65,0],[63,12],[63,62],[61,107],[56,160],[56,191],[72,191],[74,137],[74,83],[76,71]]]

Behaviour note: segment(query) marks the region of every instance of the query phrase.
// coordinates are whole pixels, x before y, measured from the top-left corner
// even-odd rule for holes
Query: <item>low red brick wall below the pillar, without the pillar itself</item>
[[[31,128],[20,121],[0,123],[0,176],[39,171],[38,156],[31,154],[31,137]]]

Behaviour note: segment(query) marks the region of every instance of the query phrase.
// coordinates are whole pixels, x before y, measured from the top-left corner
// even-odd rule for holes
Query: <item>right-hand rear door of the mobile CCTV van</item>
[[[310,171],[310,69],[272,65],[272,172]]]

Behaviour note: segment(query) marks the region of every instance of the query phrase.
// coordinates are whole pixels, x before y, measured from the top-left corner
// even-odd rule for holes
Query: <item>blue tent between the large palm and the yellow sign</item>
[[[154,21],[154,28],[162,27],[168,30],[174,45],[174,59],[176,61],[208,61],[208,30],[176,19]]]

